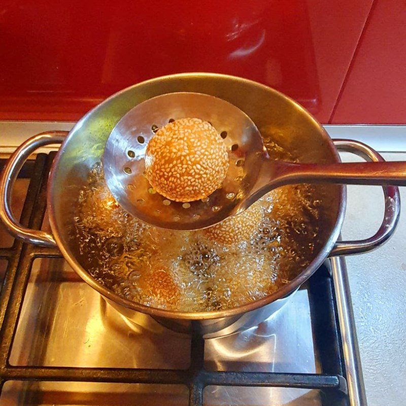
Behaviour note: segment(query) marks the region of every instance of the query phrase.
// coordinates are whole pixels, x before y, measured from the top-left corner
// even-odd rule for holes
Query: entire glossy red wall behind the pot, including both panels
[[[0,119],[76,120],[179,72],[275,87],[323,123],[405,123],[403,0],[4,0]]]

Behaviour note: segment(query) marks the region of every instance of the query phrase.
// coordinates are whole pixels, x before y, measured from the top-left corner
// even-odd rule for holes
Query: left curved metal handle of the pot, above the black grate
[[[14,217],[11,210],[11,192],[13,184],[24,162],[36,149],[49,144],[60,144],[66,138],[68,131],[41,132],[23,142],[8,159],[0,175],[0,218],[8,231],[16,238],[47,247],[56,247],[53,235],[46,231],[31,230],[23,227]]]

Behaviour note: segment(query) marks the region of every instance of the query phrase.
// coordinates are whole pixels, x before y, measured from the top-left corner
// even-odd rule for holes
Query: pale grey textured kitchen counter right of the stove
[[[406,160],[406,153],[383,156]],[[402,209],[392,238],[373,252],[346,258],[369,406],[398,406],[406,398],[406,189],[400,194]],[[343,238],[363,239],[376,232],[382,196],[377,186],[348,187]]]

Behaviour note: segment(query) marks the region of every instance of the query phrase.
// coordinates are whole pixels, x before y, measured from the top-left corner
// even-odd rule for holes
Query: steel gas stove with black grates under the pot
[[[49,229],[54,155],[29,160],[16,183],[14,210],[31,228]],[[148,316],[129,322],[57,249],[4,230],[0,273],[2,405],[366,404],[344,259],[327,260],[265,322],[205,341]]]

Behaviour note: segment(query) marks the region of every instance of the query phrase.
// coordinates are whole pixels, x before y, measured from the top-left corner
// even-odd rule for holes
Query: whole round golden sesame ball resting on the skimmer
[[[221,187],[228,169],[225,143],[198,118],[164,125],[148,143],[145,174],[152,187],[175,201],[205,198]]]

